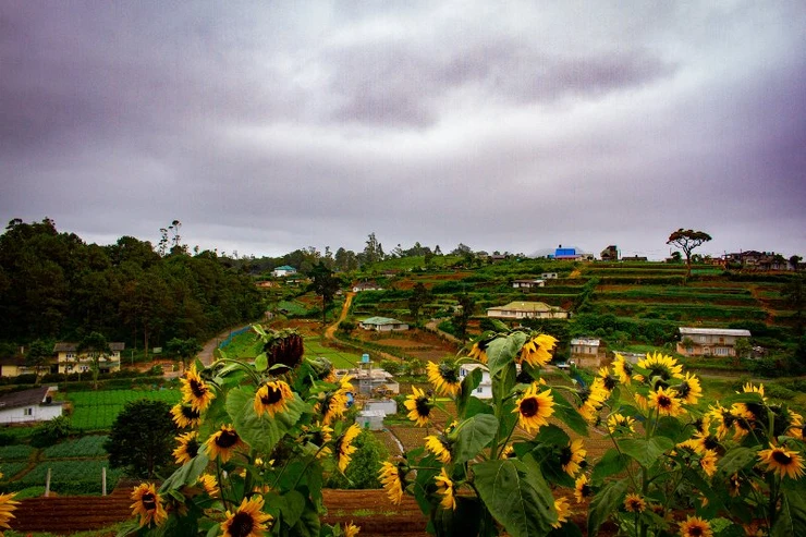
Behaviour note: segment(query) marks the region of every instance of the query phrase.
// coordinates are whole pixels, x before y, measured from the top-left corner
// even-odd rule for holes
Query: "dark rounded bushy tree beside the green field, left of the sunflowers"
[[[150,479],[171,462],[175,435],[168,403],[130,401],[114,419],[103,449],[109,453],[111,467],[123,467],[129,475]]]

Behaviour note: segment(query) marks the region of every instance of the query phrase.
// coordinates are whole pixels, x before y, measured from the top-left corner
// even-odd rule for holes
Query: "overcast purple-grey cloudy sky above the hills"
[[[789,257],[805,205],[803,0],[0,0],[2,227]]]

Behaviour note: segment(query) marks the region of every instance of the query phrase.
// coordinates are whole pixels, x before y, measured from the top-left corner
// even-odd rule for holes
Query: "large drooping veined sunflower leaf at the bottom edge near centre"
[[[545,481],[541,487],[537,479],[527,477],[522,462],[488,461],[474,465],[473,472],[481,500],[512,537],[537,537],[551,532],[551,523],[557,520],[553,501],[546,500],[551,492]]]

